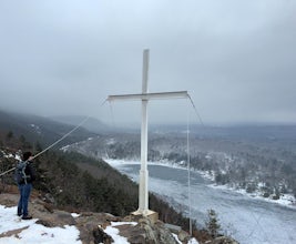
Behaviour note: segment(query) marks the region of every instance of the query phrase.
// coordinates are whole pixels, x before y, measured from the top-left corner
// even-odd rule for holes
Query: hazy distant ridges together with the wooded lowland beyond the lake
[[[52,119],[32,114],[1,112],[1,129],[49,145],[81,123],[83,116]],[[57,120],[62,121],[57,122]],[[140,159],[139,129],[104,125],[90,118],[58,148],[78,151],[96,159]],[[86,130],[88,129],[88,130]],[[195,170],[210,172],[220,184],[235,184],[255,191],[267,184],[263,194],[296,194],[296,126],[188,126],[153,125],[149,131],[149,160],[182,163],[187,152]],[[187,133],[188,132],[188,133]],[[187,141],[188,139],[188,141]],[[73,144],[74,143],[74,144]],[[188,143],[188,144],[187,144]]]

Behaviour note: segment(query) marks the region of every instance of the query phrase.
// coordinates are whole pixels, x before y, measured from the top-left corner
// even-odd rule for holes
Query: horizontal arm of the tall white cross
[[[187,91],[176,91],[176,92],[109,95],[106,100],[111,102],[115,100],[187,99],[187,98],[188,98]]]

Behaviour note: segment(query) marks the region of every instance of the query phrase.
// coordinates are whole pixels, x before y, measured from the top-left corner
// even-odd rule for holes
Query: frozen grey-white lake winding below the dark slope
[[[139,182],[140,165],[109,161],[113,167]],[[188,213],[188,173],[184,169],[149,165],[149,191],[167,199]],[[204,224],[206,212],[213,209],[224,233],[242,244],[295,244],[296,209],[216,189],[196,172],[191,172],[191,215]]]

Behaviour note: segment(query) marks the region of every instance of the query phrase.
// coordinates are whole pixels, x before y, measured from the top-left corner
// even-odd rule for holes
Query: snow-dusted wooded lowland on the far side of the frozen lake
[[[217,184],[261,192],[264,197],[296,196],[296,139],[293,125],[205,129],[151,133],[149,160],[208,173]],[[187,148],[188,146],[188,148]],[[140,134],[100,135],[64,148],[93,157],[140,159]]]

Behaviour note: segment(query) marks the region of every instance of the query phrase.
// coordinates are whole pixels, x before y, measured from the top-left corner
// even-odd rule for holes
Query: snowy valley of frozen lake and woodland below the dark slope
[[[154,130],[149,136],[149,190],[200,226],[214,210],[221,232],[239,243],[295,243],[294,133],[295,128],[269,126],[191,134]],[[104,159],[139,181],[139,133],[98,135],[62,150]]]

